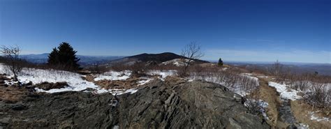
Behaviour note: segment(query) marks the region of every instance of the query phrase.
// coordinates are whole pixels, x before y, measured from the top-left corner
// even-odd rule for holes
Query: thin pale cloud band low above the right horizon
[[[293,50],[288,52],[260,51],[260,50],[207,50],[206,59],[218,59],[228,61],[286,61],[306,63],[331,63],[331,52],[312,52],[306,50]]]

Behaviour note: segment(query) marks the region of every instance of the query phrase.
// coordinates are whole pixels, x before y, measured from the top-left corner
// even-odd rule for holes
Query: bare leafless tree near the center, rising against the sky
[[[186,45],[182,50],[182,62],[184,63],[184,68],[180,75],[185,76],[187,72],[187,68],[191,65],[191,63],[196,60],[200,59],[204,56],[203,52],[201,52],[201,47],[196,42],[191,42]]]

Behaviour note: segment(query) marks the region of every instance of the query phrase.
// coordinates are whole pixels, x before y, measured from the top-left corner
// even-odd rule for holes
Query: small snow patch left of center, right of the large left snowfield
[[[131,76],[131,71],[129,70],[124,70],[121,72],[116,72],[116,71],[110,71],[107,73],[103,73],[102,75],[98,75],[98,77],[94,78],[94,81],[100,81],[103,79],[108,79],[108,80],[125,80],[130,78]]]

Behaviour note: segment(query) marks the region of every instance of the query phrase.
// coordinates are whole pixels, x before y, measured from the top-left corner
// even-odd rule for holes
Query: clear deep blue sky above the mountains
[[[330,0],[0,0],[0,44],[23,54],[61,42],[82,55],[180,53],[203,59],[331,63]]]

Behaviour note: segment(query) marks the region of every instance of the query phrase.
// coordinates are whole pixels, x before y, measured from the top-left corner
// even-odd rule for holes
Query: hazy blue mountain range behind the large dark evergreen
[[[91,65],[94,63],[103,64],[115,59],[122,59],[125,56],[77,56],[81,65]],[[32,63],[47,63],[48,53],[44,54],[25,54],[21,55],[22,59],[26,59]]]

